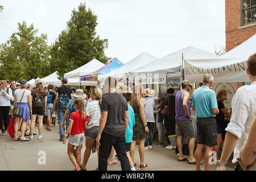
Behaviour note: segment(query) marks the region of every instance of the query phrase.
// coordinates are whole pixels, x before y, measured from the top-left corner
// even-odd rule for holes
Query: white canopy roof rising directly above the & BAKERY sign
[[[184,59],[213,59],[214,53],[194,47],[186,47],[170,55],[161,57],[151,63],[132,71],[133,73],[170,73],[172,76],[181,76],[182,53]]]

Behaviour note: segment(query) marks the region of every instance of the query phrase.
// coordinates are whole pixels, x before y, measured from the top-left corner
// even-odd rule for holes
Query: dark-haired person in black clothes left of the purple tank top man
[[[168,97],[166,97],[161,105],[161,109],[164,109],[164,106],[169,106],[169,114],[164,116],[164,126],[166,127],[166,133],[167,133],[167,142],[168,142],[168,146],[166,148],[168,149],[172,149],[172,148],[176,148],[176,146],[172,146],[169,136],[170,138],[175,138],[175,125],[176,125],[176,121],[175,121],[175,96],[174,96],[174,89],[173,88],[169,88],[167,90],[167,94]]]

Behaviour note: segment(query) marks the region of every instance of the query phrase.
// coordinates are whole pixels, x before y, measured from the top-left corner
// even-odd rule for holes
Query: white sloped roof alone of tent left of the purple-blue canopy
[[[101,67],[104,67],[104,64],[97,59],[93,59],[89,63],[82,65],[81,67],[74,69],[71,72],[65,73],[64,78],[79,78],[80,76],[92,73]]]

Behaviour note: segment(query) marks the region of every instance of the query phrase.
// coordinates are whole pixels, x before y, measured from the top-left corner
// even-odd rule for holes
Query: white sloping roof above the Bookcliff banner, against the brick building
[[[234,57],[250,57],[256,53],[256,34],[251,36],[245,42],[241,43],[237,47],[231,49],[230,51],[224,53],[223,55],[217,57],[217,59],[226,59]]]

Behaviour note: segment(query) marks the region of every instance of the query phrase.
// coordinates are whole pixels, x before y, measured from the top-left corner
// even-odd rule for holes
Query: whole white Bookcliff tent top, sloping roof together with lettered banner
[[[185,79],[201,82],[205,73],[212,73],[214,82],[249,82],[246,61],[256,53],[255,47],[256,34],[215,59],[185,59]]]

